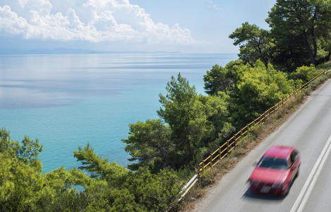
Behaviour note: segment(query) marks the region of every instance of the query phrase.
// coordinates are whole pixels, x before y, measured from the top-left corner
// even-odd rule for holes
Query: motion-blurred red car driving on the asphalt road
[[[299,175],[300,155],[291,146],[272,146],[258,161],[249,177],[252,192],[284,196]]]

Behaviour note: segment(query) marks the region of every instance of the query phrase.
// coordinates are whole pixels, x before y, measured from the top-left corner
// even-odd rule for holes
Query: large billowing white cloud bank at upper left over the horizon
[[[34,40],[129,42],[148,45],[196,43],[178,24],[155,24],[128,0],[2,0],[0,35]]]

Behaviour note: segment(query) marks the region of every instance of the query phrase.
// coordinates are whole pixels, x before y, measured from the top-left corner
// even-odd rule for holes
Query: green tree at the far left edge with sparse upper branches
[[[25,136],[20,145],[10,132],[0,130],[0,208],[3,211],[33,211],[42,195],[42,146]]]

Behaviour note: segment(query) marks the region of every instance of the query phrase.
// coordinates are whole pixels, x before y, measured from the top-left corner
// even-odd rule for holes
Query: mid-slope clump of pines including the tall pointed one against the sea
[[[166,96],[160,94],[160,119],[130,124],[128,139],[122,139],[130,160],[137,162],[128,165],[131,170],[147,167],[158,172],[167,166],[194,170],[205,153],[234,130],[224,99],[198,95],[180,73],[171,77],[166,89]]]

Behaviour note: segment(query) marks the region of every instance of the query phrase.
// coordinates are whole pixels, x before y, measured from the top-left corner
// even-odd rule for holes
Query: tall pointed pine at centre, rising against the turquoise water
[[[195,87],[191,87],[180,73],[177,79],[171,77],[166,90],[166,96],[159,95],[164,108],[157,113],[170,126],[171,140],[176,145],[176,163],[179,167],[197,163],[205,152],[202,139],[206,134],[207,119],[203,105]]]

